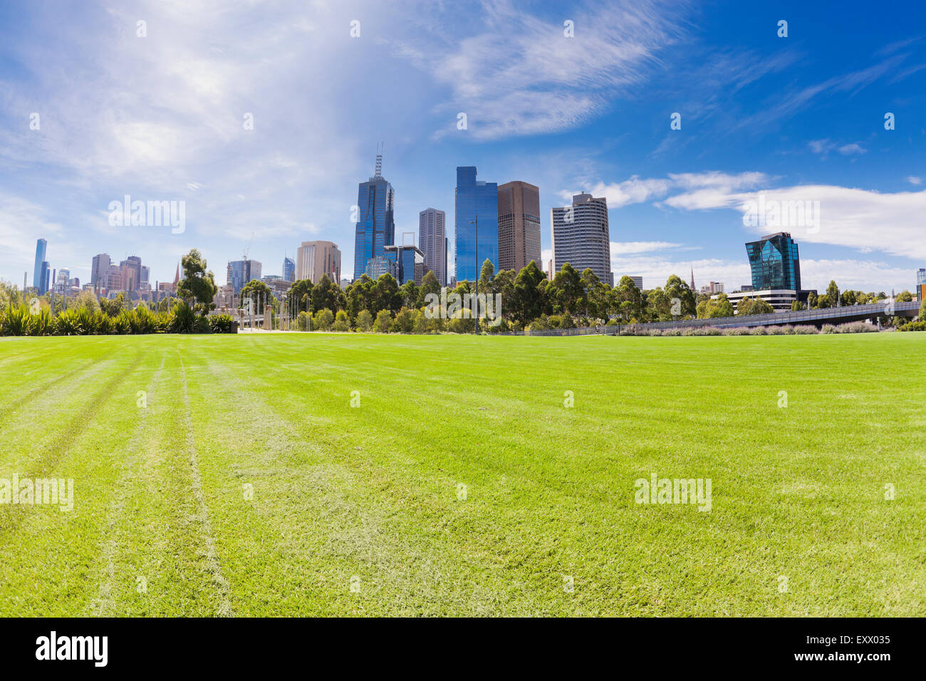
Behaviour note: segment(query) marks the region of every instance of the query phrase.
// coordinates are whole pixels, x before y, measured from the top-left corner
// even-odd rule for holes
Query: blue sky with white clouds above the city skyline
[[[0,6],[8,281],[31,284],[39,237],[81,282],[99,252],[172,279],[196,247],[222,284],[252,233],[265,274],[310,239],[341,246],[352,271],[350,210],[380,142],[397,234],[428,207],[452,225],[456,168],[475,165],[540,187],[544,259],[550,208],[584,189],[607,196],[618,275],[648,288],[694,268],[732,290],[749,281],[745,241],[779,231],[744,224],[761,194],[820,202],[818,228],[786,230],[806,286],[912,289],[926,267],[926,4]],[[123,195],[185,201],[185,232],[111,226]]]

